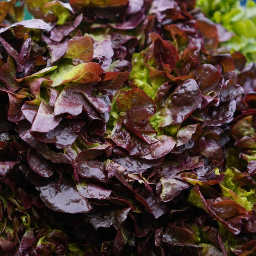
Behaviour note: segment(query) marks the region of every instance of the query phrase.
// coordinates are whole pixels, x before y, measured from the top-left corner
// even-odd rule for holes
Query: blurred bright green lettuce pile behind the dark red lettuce
[[[241,6],[239,0],[197,0],[197,6],[213,22],[233,33],[233,37],[222,44],[221,51],[240,52],[248,62],[256,61],[255,1],[247,0],[245,6]]]

